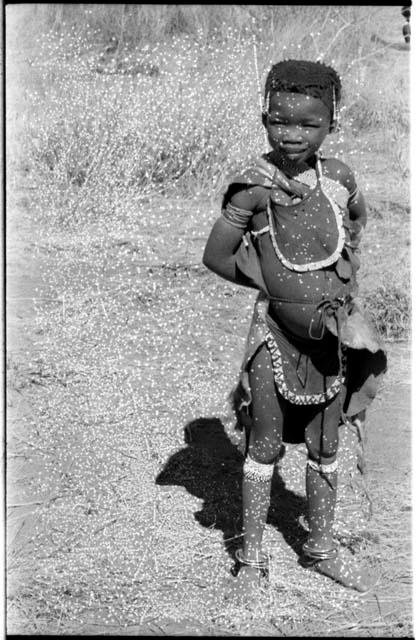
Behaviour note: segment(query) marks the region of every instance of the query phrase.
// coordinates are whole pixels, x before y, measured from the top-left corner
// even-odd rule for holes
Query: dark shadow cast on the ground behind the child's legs
[[[199,418],[184,428],[187,447],[167,461],[156,478],[158,485],[179,485],[204,501],[195,518],[203,527],[220,529],[225,548],[234,556],[241,546],[244,443],[237,447],[227,437],[218,418]],[[299,516],[305,513],[303,497],[285,488],[275,469],[268,522],[300,553],[305,529]]]

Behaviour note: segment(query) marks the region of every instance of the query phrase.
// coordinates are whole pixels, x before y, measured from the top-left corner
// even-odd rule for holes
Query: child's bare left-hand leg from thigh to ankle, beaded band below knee
[[[243,468],[243,558],[258,562],[270,506],[274,463],[282,444],[283,411],[274,383],[269,351],[262,347],[249,371],[252,427]]]

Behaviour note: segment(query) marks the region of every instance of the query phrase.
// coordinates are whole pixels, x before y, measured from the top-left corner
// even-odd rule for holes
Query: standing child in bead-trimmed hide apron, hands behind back
[[[262,538],[283,439],[308,452],[303,566],[368,588],[333,539],[339,424],[362,415],[386,369],[354,299],[364,199],[348,166],[319,151],[338,125],[340,95],[338,74],[322,63],[272,66],[262,113],[271,151],[229,185],[204,252],[209,269],[260,291],[233,397],[251,421],[236,554],[243,590],[267,568]]]

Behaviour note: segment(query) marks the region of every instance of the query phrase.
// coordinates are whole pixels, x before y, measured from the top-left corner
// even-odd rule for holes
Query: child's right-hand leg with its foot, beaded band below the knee
[[[309,454],[306,467],[309,536],[304,550],[320,573],[344,586],[366,591],[368,577],[339,555],[333,539],[339,417],[339,400],[335,398],[315,415],[305,430]]]

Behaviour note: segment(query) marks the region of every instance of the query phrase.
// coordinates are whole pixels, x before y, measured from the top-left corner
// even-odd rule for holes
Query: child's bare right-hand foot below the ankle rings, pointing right
[[[352,559],[342,557],[339,552],[334,557],[323,559],[317,559],[312,555],[305,554],[301,563],[309,569],[332,578],[332,580],[339,582],[344,587],[355,589],[360,593],[365,593],[374,586],[367,571],[357,567]]]

